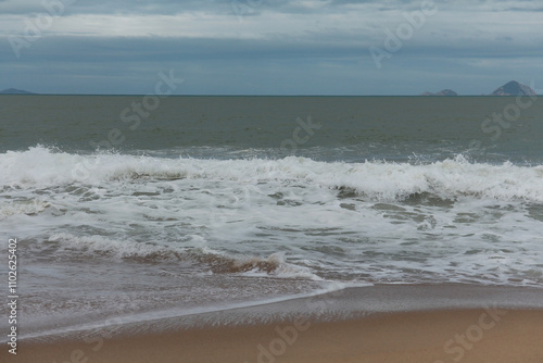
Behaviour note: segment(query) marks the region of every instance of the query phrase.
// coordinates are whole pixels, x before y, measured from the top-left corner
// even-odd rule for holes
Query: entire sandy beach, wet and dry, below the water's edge
[[[268,323],[173,328],[177,324],[157,321],[132,324],[129,329],[118,329],[118,334],[104,329],[101,336],[73,336],[47,342],[23,340],[16,356],[8,354],[4,348],[0,358],[2,362],[28,363],[543,362],[543,309],[534,306],[542,291],[482,287],[424,287],[424,290],[434,293],[425,297],[416,287],[366,288],[334,292],[328,300],[323,296],[258,306],[264,315],[266,311],[281,309],[293,313]],[[475,290],[480,292],[478,298],[466,299]],[[346,312],[349,303],[341,301],[352,302],[361,291],[365,295],[372,291],[376,297],[387,295],[388,303],[395,302],[397,306],[411,301],[412,306],[406,311],[367,313],[371,306],[366,305],[364,311],[364,303],[358,301],[358,314],[351,311],[343,318],[326,321],[339,316],[338,311]],[[407,296],[406,291],[412,293]],[[500,296],[503,303],[488,304]],[[506,306],[515,297],[517,304]],[[417,299],[426,301],[421,310],[413,304]],[[457,308],[433,309],[443,302]],[[313,315],[307,314],[310,303]],[[480,308],[466,308],[470,304]],[[533,308],[526,308],[530,305]],[[306,313],[301,313],[304,310]],[[254,314],[254,308],[231,313],[249,316]],[[269,316],[275,315],[269,313]],[[134,329],[135,326],[140,329]],[[168,328],[160,331],[160,326]]]

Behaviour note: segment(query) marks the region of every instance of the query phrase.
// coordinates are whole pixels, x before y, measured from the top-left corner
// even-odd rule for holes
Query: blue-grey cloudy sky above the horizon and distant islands
[[[141,95],[160,72],[179,95],[543,88],[543,1],[0,0],[0,89]]]

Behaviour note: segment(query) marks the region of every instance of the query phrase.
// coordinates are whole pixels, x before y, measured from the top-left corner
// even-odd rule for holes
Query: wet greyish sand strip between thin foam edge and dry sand
[[[35,331],[20,340],[48,342],[84,337],[88,331],[104,329],[114,335],[160,334],[179,329],[213,326],[269,324],[304,316],[315,322],[367,317],[379,313],[480,308],[543,310],[543,289],[510,286],[446,285],[372,285],[329,286],[292,297],[202,308],[195,311],[168,309],[134,315],[104,316],[81,326],[64,326]],[[24,326],[22,326],[24,330]],[[7,340],[0,338],[0,342]]]

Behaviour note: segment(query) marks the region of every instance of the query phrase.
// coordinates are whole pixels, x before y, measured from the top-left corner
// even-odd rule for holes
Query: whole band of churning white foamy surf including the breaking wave
[[[0,154],[0,228],[31,243],[36,260],[165,263],[172,276],[254,280],[543,284],[541,165],[36,147]]]

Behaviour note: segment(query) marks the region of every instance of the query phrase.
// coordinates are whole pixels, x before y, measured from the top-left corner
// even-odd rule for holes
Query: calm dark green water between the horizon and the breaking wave
[[[67,152],[296,153],[326,161],[443,160],[462,153],[478,161],[538,162],[543,157],[541,98],[171,97],[159,103],[146,100],[147,109],[143,101],[132,96],[2,96],[0,151],[42,145]],[[493,114],[504,114],[503,124]],[[304,142],[292,142],[296,118],[307,124],[307,117],[320,128],[314,126],[311,135],[301,130],[296,141]]]

